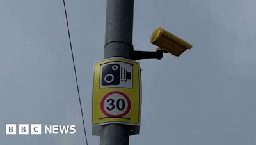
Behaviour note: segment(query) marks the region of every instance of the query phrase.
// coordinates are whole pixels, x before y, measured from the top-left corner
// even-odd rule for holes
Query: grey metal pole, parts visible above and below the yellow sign
[[[132,58],[134,0],[108,0],[104,58]],[[100,145],[128,145],[129,127],[122,124],[102,125]]]

